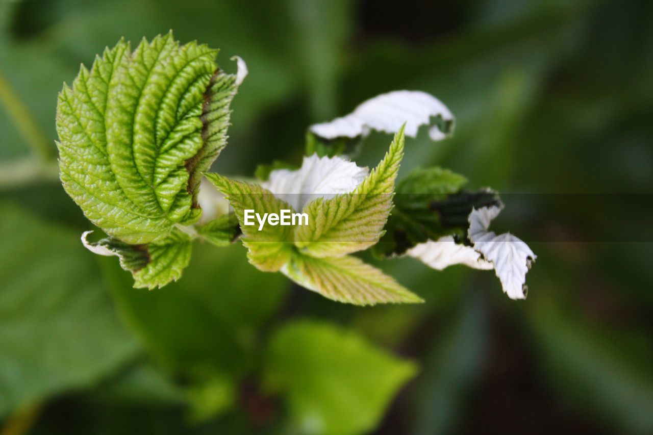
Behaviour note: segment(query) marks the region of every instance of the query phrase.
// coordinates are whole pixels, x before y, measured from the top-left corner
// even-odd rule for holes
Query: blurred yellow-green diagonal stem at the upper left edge
[[[9,118],[14,122],[18,132],[41,161],[54,157],[52,142],[44,135],[39,124],[29,113],[29,109],[11,88],[5,76],[0,72],[0,105],[5,106]]]

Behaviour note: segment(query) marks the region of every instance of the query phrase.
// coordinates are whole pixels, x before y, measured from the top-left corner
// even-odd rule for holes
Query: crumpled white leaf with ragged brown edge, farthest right
[[[526,272],[537,258],[528,245],[510,233],[496,235],[488,231],[490,222],[500,212],[498,206],[472,209],[469,217],[469,238],[474,249],[494,264],[494,271],[511,299],[526,298]]]

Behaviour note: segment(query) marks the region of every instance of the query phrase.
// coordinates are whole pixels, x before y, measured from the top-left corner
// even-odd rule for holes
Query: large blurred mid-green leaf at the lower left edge
[[[0,205],[0,415],[88,387],[135,356],[74,233]]]

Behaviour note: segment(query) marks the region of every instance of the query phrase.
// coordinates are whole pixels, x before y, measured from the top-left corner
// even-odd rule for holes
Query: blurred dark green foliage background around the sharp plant
[[[180,282],[132,289],[79,242],[56,95],[168,29],[247,61],[225,174],[298,163],[310,123],[378,93],[436,95],[456,135],[409,140],[402,173],[529,194],[497,221],[538,255],[528,300],[400,259],[381,266],[426,303],[357,308],[207,245]],[[651,434],[652,114],[646,0],[0,0],[0,434]]]

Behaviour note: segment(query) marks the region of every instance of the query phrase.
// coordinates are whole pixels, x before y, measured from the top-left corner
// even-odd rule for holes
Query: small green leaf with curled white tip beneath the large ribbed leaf
[[[132,272],[136,288],[151,290],[178,280],[191,260],[191,238],[179,229],[146,245],[129,245],[112,237],[89,243],[86,234],[82,234],[82,242],[87,248],[120,257],[120,266]],[[103,249],[108,252],[103,253]]]

